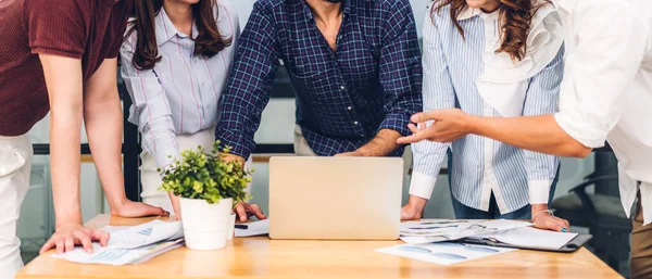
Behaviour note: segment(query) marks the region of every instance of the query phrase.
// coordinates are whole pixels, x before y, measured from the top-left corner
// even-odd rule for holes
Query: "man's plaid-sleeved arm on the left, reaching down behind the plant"
[[[272,15],[273,11],[261,1],[254,3],[222,94],[222,115],[215,138],[231,148],[227,160],[237,160],[241,164],[255,148],[253,135],[269,102],[274,74],[279,66],[279,47]]]

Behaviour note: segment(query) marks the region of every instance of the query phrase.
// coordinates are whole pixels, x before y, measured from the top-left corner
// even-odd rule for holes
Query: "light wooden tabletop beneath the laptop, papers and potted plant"
[[[137,225],[151,218],[100,215],[88,226]],[[16,278],[622,278],[586,249],[573,254],[515,251],[440,266],[377,253],[399,241],[235,239],[220,251],[180,248],[141,265],[80,265],[41,255]]]

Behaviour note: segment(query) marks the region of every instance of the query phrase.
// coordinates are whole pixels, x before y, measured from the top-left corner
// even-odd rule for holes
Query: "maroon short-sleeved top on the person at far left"
[[[88,79],[117,56],[133,0],[0,2],[0,136],[18,136],[50,110],[38,53],[80,59]]]

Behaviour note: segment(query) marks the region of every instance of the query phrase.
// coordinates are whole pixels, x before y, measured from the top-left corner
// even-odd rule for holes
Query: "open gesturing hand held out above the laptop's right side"
[[[397,142],[400,144],[414,143],[422,140],[451,142],[471,132],[471,115],[459,109],[438,110],[417,113],[410,118],[413,123],[408,125],[414,135],[402,137]],[[430,127],[426,122],[435,121]]]

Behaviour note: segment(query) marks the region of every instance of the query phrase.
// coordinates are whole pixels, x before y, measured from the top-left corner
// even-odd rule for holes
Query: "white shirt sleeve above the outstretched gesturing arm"
[[[566,41],[569,53],[554,117],[575,140],[600,148],[620,117],[650,30],[626,1],[578,1],[572,16],[573,41]]]

